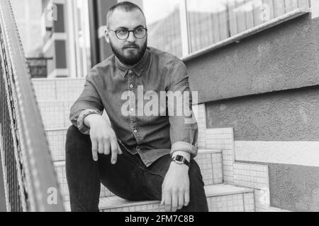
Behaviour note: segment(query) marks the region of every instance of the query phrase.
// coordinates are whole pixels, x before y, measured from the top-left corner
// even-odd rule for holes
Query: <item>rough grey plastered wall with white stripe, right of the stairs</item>
[[[235,161],[268,166],[274,208],[319,210],[318,50],[306,15],[185,61],[207,128],[233,127]]]

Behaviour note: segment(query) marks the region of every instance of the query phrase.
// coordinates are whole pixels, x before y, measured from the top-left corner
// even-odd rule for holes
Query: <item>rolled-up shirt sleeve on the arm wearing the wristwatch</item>
[[[192,110],[192,93],[189,88],[189,75],[180,59],[175,59],[169,76],[167,107],[169,112],[171,155],[177,150],[198,153],[198,125]]]

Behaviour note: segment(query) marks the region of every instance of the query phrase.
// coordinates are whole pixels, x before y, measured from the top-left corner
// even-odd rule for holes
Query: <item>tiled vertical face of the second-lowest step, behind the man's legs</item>
[[[223,183],[222,153],[220,150],[199,150],[196,162],[199,167],[201,167],[203,181],[206,185]],[[69,190],[65,174],[65,161],[55,162],[55,169],[62,196],[65,201],[69,201]],[[113,194],[101,185],[100,196],[113,196]]]

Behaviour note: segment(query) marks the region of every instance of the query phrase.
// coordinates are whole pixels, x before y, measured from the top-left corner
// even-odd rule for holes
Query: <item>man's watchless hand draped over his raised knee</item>
[[[116,133],[108,121],[99,114],[89,114],[84,119],[84,124],[90,127],[90,138],[92,143],[93,160],[99,160],[98,153],[111,155],[111,163],[116,164],[118,155],[122,155],[118,146]]]

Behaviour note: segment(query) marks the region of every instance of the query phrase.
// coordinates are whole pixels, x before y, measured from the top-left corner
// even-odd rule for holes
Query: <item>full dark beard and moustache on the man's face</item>
[[[122,64],[128,65],[128,66],[133,66],[135,64],[138,64],[138,62],[142,59],[142,57],[145,54],[146,48],[147,48],[147,41],[142,45],[142,47],[139,47],[137,44],[128,44],[125,45],[125,47],[118,49],[113,46],[112,42],[110,42],[111,49],[113,53],[116,55],[119,61],[122,62]],[[135,47],[138,49],[137,54],[133,54],[133,52],[130,52],[128,56],[124,55],[124,50],[128,47]]]

